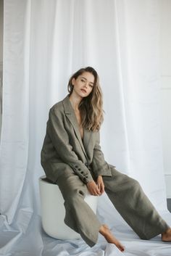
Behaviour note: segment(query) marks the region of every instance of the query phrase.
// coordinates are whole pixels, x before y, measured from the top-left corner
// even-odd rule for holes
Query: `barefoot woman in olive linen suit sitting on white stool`
[[[171,241],[171,228],[159,216],[138,181],[119,173],[104,160],[99,145],[103,121],[99,77],[92,67],[78,70],[69,80],[69,95],[51,107],[41,151],[46,177],[57,183],[64,197],[64,222],[93,247],[102,234],[120,251],[124,247],[101,224],[84,201],[107,193],[114,207],[141,239],[162,234]]]

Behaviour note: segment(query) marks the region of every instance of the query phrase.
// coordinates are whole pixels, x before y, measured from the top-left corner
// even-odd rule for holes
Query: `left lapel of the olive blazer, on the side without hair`
[[[79,128],[78,128],[78,120],[75,116],[75,112],[72,108],[72,105],[70,103],[70,99],[69,99],[69,96],[67,95],[64,100],[63,100],[63,105],[64,105],[64,113],[65,115],[67,116],[67,118],[70,120],[70,123],[72,124],[74,130],[75,130],[75,134],[78,138],[78,141],[80,142],[80,146],[81,148],[83,149],[83,152],[84,154],[86,154],[86,150],[83,146],[83,141],[80,137],[80,131],[79,131]],[[86,129],[84,129],[84,133],[85,133]],[[85,134],[84,134],[85,135]]]

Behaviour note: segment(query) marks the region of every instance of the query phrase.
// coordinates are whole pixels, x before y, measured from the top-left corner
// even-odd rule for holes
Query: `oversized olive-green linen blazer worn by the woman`
[[[99,131],[84,129],[83,140],[81,139],[78,121],[68,95],[49,110],[41,165],[46,177],[52,182],[56,182],[62,172],[68,172],[69,168],[72,168],[83,183],[88,183],[99,175],[111,176],[111,165],[104,160],[99,145]]]

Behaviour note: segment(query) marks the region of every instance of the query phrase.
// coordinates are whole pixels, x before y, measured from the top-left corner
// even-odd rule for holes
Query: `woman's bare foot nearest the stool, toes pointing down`
[[[104,236],[104,238],[108,241],[110,244],[115,244],[118,249],[120,249],[121,252],[125,250],[125,248],[120,244],[120,241],[118,241],[111,233],[107,225],[102,225],[100,230],[100,234]]]

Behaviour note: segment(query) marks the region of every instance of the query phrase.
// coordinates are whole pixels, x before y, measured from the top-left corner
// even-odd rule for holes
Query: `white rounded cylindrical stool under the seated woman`
[[[47,181],[46,176],[39,178],[39,189],[41,197],[41,221],[43,230],[49,236],[56,239],[80,239],[80,234],[73,231],[64,223],[65,209],[64,199],[55,183]],[[88,194],[86,203],[96,213],[98,197]]]

